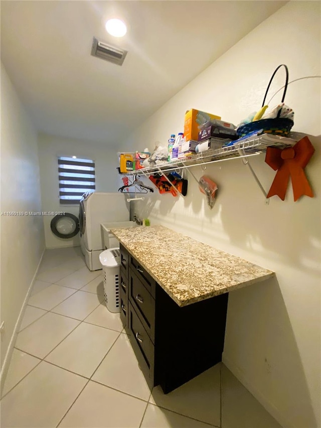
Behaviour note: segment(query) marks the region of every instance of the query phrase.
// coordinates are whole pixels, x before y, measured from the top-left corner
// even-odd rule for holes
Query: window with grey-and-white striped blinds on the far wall
[[[85,192],[95,190],[95,162],[90,159],[58,158],[61,205],[77,205]]]

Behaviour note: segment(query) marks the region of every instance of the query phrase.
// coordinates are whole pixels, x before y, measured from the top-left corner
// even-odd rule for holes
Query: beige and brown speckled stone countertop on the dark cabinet
[[[110,231],[179,306],[228,293],[274,275],[271,270],[164,226]]]

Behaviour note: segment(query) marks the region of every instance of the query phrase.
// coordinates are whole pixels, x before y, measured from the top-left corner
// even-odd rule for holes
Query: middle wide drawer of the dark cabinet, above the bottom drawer
[[[129,299],[144,329],[154,340],[155,300],[143,286],[136,272],[129,269]]]

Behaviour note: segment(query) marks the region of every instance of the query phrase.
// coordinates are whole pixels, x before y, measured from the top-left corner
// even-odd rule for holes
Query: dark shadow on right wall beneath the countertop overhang
[[[286,426],[317,426],[296,338],[276,277],[230,293],[223,362],[259,401],[262,398],[265,407],[269,401],[267,410],[274,417],[291,417],[279,422]]]

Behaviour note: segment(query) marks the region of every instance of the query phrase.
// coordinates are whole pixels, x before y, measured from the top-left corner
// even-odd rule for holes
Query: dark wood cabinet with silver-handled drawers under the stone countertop
[[[228,293],[180,307],[120,252],[121,320],[147,384],[168,393],[222,360]]]

